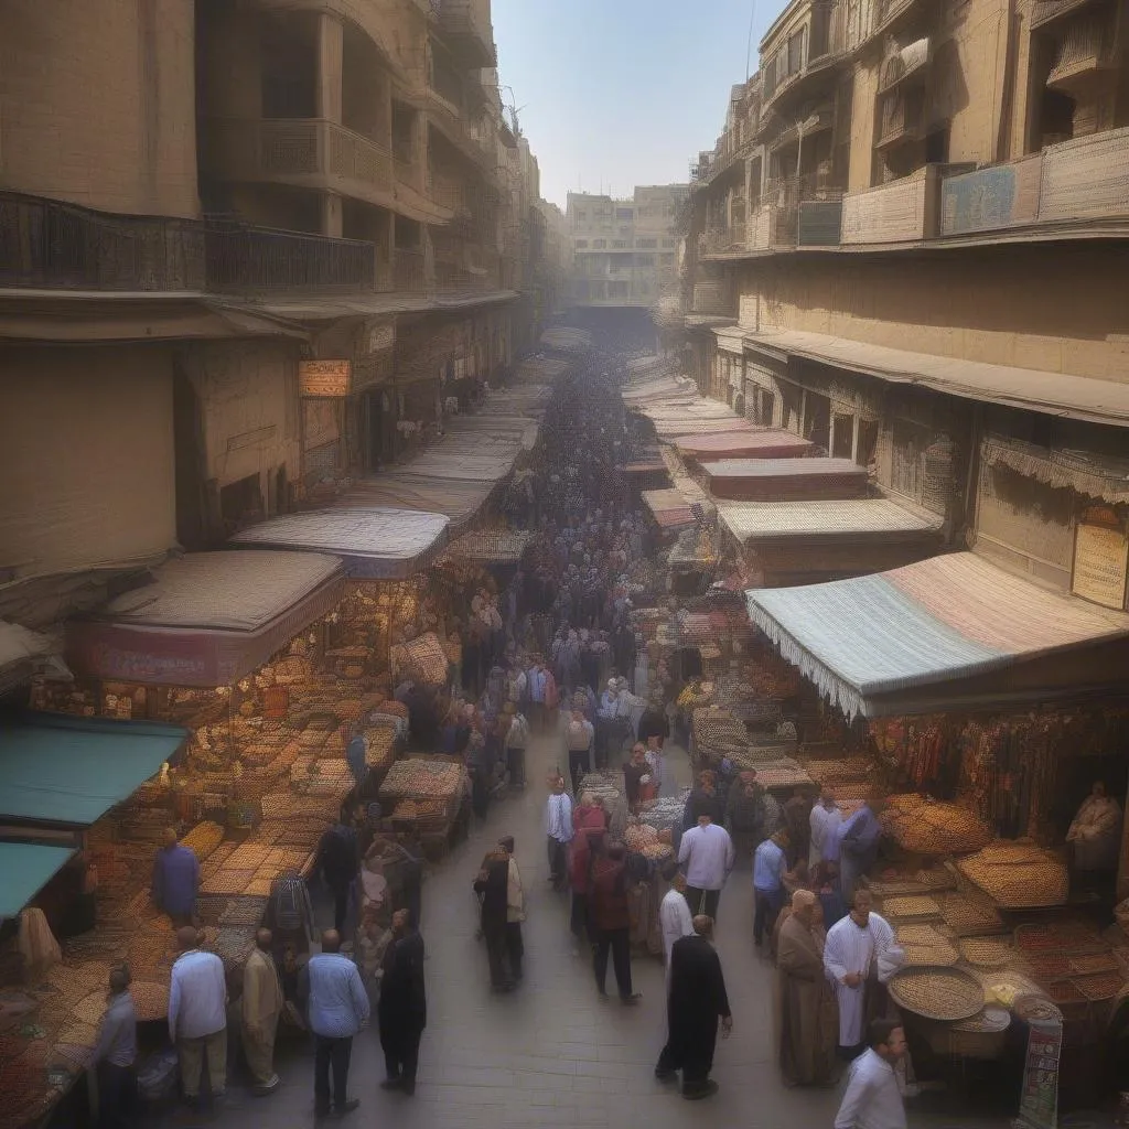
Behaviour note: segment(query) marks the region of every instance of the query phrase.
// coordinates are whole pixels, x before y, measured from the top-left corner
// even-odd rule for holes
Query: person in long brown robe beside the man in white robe
[[[812,928],[815,905],[815,894],[797,890],[780,927],[776,1027],[786,1086],[825,1086],[837,1076],[834,1012],[828,1007],[823,952]]]

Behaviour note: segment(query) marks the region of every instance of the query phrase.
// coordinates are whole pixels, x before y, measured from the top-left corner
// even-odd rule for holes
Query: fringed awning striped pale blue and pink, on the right
[[[1129,637],[1129,615],[1041,588],[974,553],[745,595],[753,622],[848,716],[882,712],[884,694]]]

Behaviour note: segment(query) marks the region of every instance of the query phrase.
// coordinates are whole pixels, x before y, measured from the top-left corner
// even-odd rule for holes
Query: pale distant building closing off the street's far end
[[[655,306],[677,286],[675,217],[689,186],[639,186],[630,200],[570,192],[571,305]]]

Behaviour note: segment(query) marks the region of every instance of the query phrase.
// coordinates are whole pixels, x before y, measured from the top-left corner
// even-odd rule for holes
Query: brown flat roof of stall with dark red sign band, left
[[[112,599],[102,619],[135,627],[259,631],[343,574],[336,557],[273,550],[187,553]]]

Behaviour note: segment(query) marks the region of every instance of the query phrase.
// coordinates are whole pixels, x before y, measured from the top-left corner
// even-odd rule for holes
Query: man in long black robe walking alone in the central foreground
[[[691,937],[680,937],[671,949],[671,990],[667,996],[666,1045],[655,1077],[671,1082],[682,1071],[682,1096],[689,1101],[717,1093],[714,1068],[718,1019],[723,1038],[733,1030],[721,962],[714,949],[714,919],[699,913]]]

